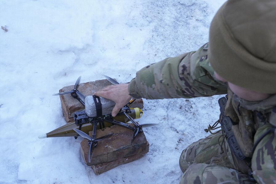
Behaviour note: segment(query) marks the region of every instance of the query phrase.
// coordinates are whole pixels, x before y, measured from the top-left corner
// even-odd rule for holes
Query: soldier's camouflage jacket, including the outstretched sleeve
[[[234,122],[233,133],[249,163],[236,159],[225,139],[228,159],[235,169],[243,173],[247,174],[248,168],[252,167],[253,176],[259,183],[276,182],[275,132],[264,135],[276,126],[276,95],[260,102],[249,102],[233,94],[226,83],[214,78],[214,70],[208,60],[208,43],[197,51],[142,68],[129,83],[128,90],[133,98],[146,99],[194,98],[228,93],[225,115]]]

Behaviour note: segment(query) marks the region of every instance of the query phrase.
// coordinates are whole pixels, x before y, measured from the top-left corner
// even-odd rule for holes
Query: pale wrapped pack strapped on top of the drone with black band
[[[113,107],[115,106],[115,102],[112,100],[98,97],[102,103],[102,115],[111,114]],[[96,105],[93,96],[89,95],[85,98],[85,113],[89,117],[96,117]]]

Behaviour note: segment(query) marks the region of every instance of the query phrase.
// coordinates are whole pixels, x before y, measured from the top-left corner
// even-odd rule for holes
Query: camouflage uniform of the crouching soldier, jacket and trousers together
[[[237,159],[227,138],[220,133],[208,136],[186,148],[180,158],[185,183],[276,183],[276,94],[260,102],[249,102],[227,91],[227,85],[214,78],[208,60],[208,43],[196,52],[167,58],[144,67],[129,83],[133,98],[193,98],[226,94],[226,116],[247,161]],[[274,128],[258,143],[268,128]],[[220,142],[220,144],[218,144]],[[254,145],[257,145],[253,150]],[[251,159],[252,158],[252,159]],[[229,181],[229,182],[227,182]],[[231,181],[231,182],[230,182]]]

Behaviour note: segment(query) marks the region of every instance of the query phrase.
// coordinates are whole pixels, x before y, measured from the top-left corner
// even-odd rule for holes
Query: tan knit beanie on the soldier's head
[[[227,81],[276,93],[276,0],[228,0],[210,26],[209,60]]]

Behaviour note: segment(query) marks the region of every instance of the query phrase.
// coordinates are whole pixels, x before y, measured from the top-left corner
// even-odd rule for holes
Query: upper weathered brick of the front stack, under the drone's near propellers
[[[92,132],[90,132],[90,136],[91,133]],[[92,166],[101,164],[101,167],[105,167],[109,170],[118,165],[128,163],[129,161],[126,162],[128,159],[131,159],[131,161],[135,160],[135,158],[139,159],[141,155],[148,152],[149,144],[144,132],[138,133],[132,144],[130,142],[133,131],[119,125],[113,125],[110,128],[107,127],[97,130],[96,137],[101,137],[110,133],[114,133],[115,135],[98,142],[98,145],[94,150],[91,163],[88,163],[88,141],[82,140],[81,152],[86,165]],[[124,161],[124,159],[127,160]],[[109,163],[112,161],[116,162]],[[94,168],[99,168],[99,166],[94,166]],[[105,170],[101,169],[97,172],[102,173],[105,172]]]

